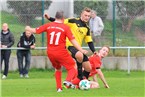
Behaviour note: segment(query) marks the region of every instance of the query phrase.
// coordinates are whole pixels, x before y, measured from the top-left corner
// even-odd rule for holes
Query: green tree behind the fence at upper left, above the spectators
[[[36,17],[42,16],[42,1],[7,1],[7,3],[24,24],[31,24]],[[44,9],[48,9],[51,1],[45,0],[44,3]]]

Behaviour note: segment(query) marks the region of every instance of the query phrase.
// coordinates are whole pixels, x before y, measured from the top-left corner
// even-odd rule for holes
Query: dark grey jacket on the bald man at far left
[[[14,36],[8,29],[8,33],[4,34],[3,30],[1,31],[1,45],[6,45],[8,48],[11,47],[14,44]]]

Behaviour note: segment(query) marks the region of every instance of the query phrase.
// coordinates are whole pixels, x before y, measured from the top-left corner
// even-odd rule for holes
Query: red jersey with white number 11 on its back
[[[47,32],[47,49],[49,50],[65,48],[66,37],[69,40],[74,39],[70,28],[63,23],[51,22],[36,28],[37,34],[42,32]]]

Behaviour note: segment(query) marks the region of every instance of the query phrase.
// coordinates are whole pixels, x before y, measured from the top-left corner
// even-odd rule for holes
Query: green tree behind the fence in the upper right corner
[[[133,21],[145,12],[145,1],[116,1],[122,30],[130,32]]]

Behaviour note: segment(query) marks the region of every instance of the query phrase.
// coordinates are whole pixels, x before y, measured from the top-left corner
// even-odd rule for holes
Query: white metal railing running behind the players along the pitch
[[[47,47],[35,47],[34,50],[46,50]],[[84,49],[89,49],[89,47],[82,47]],[[101,47],[95,47],[96,49],[101,48]],[[0,48],[0,50],[7,50],[7,49],[11,49],[11,50],[18,50],[18,49],[25,49],[25,48],[17,48],[17,47],[11,47],[11,48]],[[128,69],[127,69],[127,73],[130,74],[130,51],[131,49],[145,49],[145,47],[110,47],[110,49],[127,49],[128,52]]]

